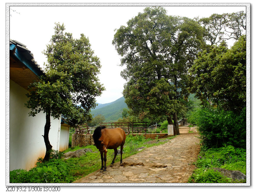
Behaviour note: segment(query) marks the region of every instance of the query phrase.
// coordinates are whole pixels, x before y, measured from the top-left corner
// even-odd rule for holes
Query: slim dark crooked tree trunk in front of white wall
[[[46,112],[46,123],[45,123],[45,126],[44,126],[44,135],[43,135],[43,137],[44,137],[46,152],[45,152],[43,162],[48,161],[50,159],[50,153],[51,153],[51,148],[52,148],[52,146],[50,144],[50,141],[49,141],[50,126],[51,126],[51,113],[50,113],[50,110],[49,110],[48,112]]]

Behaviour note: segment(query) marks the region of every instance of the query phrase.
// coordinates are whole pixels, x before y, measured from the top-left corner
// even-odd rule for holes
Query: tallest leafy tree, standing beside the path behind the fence
[[[202,27],[192,19],[173,17],[163,7],[147,7],[121,26],[112,44],[122,56],[123,95],[131,115],[140,119],[174,119],[179,134],[179,99],[189,95],[187,69],[202,42]]]

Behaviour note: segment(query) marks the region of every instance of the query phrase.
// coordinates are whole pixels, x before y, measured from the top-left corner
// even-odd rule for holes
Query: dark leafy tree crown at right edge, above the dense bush
[[[241,111],[246,106],[246,38],[203,51],[190,69],[192,92],[212,105]]]

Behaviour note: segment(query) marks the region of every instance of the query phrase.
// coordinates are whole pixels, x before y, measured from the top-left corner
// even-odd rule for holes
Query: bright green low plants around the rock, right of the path
[[[227,170],[239,170],[246,174],[246,150],[233,146],[208,149],[199,153],[197,169],[190,176],[188,183],[237,183],[227,178],[213,167],[220,167]],[[240,181],[241,183],[246,182]]]

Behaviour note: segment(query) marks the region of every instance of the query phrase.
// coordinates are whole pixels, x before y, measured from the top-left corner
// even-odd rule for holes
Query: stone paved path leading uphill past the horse
[[[181,126],[180,135],[165,144],[150,147],[107,166],[107,173],[97,170],[73,183],[186,183],[199,154],[198,134]]]

